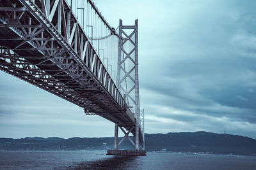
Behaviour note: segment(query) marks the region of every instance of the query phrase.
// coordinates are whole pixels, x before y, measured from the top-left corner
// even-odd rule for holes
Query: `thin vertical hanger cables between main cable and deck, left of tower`
[[[116,83],[118,55],[118,37],[114,36],[116,30],[108,24],[93,1],[68,0],[66,3],[72,9],[77,22],[83,28],[95,52],[97,52],[111,78]],[[119,90],[124,96],[123,90]]]

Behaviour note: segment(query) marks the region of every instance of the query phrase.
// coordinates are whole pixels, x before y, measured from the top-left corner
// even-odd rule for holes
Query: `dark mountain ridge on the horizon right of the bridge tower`
[[[173,152],[209,152],[248,155],[256,153],[256,140],[248,137],[211,132],[147,134],[147,150],[166,148]]]

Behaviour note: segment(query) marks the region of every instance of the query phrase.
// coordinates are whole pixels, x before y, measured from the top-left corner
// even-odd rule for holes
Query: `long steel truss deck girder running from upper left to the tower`
[[[11,34],[7,36],[1,32],[0,46],[15,52],[15,56],[10,53],[0,57],[1,70],[124,127],[135,124],[134,116],[66,1],[52,0],[53,5],[48,8],[44,6],[43,0],[11,0],[11,3],[1,1],[0,4],[8,8],[0,10],[0,31]],[[11,59],[18,56],[26,62],[14,62]],[[58,71],[52,71],[52,68]],[[49,75],[45,76],[44,72]],[[68,84],[66,80],[75,80],[77,86]],[[89,84],[94,89],[90,89],[92,87]],[[90,98],[88,101],[79,94],[82,90],[95,90],[97,95],[87,97]]]

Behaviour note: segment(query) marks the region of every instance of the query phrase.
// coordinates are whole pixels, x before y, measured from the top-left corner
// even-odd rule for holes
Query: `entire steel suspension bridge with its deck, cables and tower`
[[[145,155],[138,20],[113,28],[90,0],[2,0],[0,69],[115,123],[109,155]],[[134,150],[118,150],[125,138]]]

